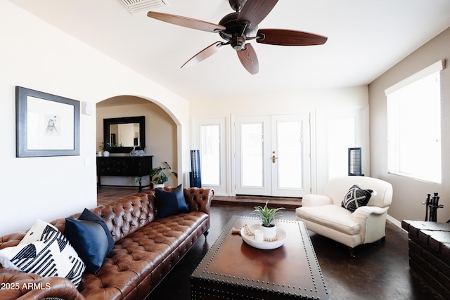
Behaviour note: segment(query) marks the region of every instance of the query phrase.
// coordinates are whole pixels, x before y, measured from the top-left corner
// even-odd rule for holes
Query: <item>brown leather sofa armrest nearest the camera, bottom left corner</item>
[[[59,277],[41,277],[37,274],[0,268],[0,299],[36,300],[48,297],[84,300],[70,280]]]

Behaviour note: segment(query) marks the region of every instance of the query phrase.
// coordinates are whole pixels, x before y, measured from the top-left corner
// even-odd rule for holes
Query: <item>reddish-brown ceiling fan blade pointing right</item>
[[[281,46],[311,46],[325,44],[328,37],[296,30],[261,29],[257,35],[264,35],[264,39],[257,39],[257,43]]]

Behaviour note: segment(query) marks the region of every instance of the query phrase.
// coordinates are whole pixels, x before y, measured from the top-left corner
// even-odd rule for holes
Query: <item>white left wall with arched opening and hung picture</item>
[[[15,157],[15,86],[95,103],[134,95],[176,120],[179,173],[189,171],[188,103],[8,1],[0,1],[0,235],[96,206],[96,116],[80,119],[79,156]]]

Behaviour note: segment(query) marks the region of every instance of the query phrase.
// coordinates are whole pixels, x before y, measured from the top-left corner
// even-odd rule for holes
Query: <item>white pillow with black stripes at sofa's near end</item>
[[[86,268],[68,239],[58,228],[37,220],[15,247],[0,249],[0,263],[42,277],[63,277],[75,286],[81,282]]]

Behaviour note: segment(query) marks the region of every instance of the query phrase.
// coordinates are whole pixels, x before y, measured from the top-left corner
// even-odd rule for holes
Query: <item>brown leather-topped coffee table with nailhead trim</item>
[[[191,299],[330,299],[316,252],[302,221],[277,220],[283,246],[261,250],[231,228],[259,223],[233,216],[191,275]]]

